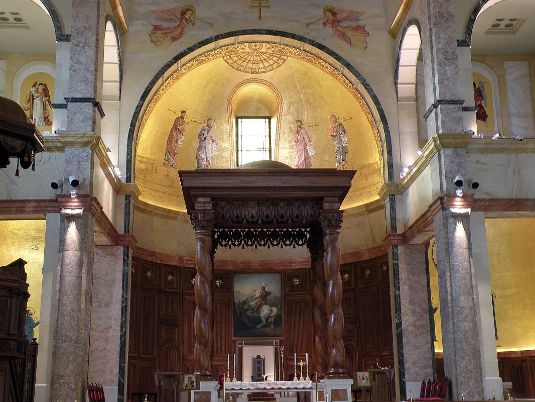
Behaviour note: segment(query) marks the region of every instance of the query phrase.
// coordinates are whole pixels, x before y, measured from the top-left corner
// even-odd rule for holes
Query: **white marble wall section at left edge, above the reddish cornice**
[[[19,177],[15,176],[17,160],[0,169],[0,199],[53,198],[56,194],[50,183],[63,178],[62,152],[41,152],[35,155],[35,171],[19,167]],[[59,190],[58,190],[59,191]]]

